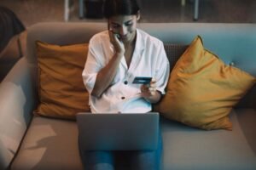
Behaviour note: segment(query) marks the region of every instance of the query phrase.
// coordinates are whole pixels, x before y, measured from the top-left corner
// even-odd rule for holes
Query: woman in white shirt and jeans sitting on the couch
[[[84,85],[90,93],[93,113],[146,113],[165,94],[169,62],[163,43],[137,29],[140,11],[136,0],[106,0],[103,6],[108,31],[90,39],[84,66]],[[135,77],[153,77],[146,85]],[[84,151],[86,169],[114,169],[125,156],[131,169],[159,169],[160,150]],[[128,165],[127,165],[128,166]],[[126,166],[125,166],[126,167]]]

